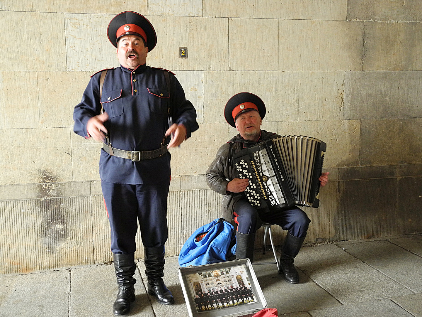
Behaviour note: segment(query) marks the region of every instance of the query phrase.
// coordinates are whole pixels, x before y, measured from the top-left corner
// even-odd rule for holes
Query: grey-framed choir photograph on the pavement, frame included
[[[267,307],[249,259],[179,268],[189,317],[252,316]]]

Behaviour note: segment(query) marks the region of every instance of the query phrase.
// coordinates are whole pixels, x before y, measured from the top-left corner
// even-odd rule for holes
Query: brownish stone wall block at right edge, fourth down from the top
[[[361,120],[360,164],[421,163],[422,119]]]

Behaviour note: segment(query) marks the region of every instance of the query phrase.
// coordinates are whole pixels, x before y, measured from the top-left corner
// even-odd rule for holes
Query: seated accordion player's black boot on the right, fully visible
[[[298,255],[303,240],[305,240],[305,237],[296,238],[287,232],[281,248],[279,274],[284,274],[284,279],[292,284],[299,283],[299,273],[293,265],[293,259]]]

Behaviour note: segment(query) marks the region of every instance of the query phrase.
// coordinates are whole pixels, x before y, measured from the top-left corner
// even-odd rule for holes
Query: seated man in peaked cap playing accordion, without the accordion
[[[306,237],[309,220],[306,213],[297,206],[277,213],[258,214],[244,195],[249,185],[247,178],[236,178],[232,158],[235,153],[264,142],[280,137],[278,134],[261,130],[262,118],[265,116],[265,104],[258,96],[252,93],[238,93],[227,102],[224,116],[230,126],[235,127],[239,134],[219,148],[216,158],[206,172],[208,186],[219,194],[224,195],[222,202],[223,217],[238,224],[236,230],[236,258],[254,256],[255,232],[263,222],[278,224],[283,230],[288,230],[281,248],[279,273],[289,283],[299,283],[299,274],[293,265],[293,259],[298,255],[303,240]],[[319,177],[321,186],[328,181],[328,173]]]

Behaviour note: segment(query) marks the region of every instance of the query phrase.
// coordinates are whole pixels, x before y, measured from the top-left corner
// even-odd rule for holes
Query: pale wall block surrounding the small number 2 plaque
[[[148,53],[148,65],[172,71],[228,69],[227,19],[193,16],[147,18],[154,25],[158,39],[157,46]],[[207,34],[210,37],[205,36]],[[179,58],[179,47],[187,47],[187,58]]]

